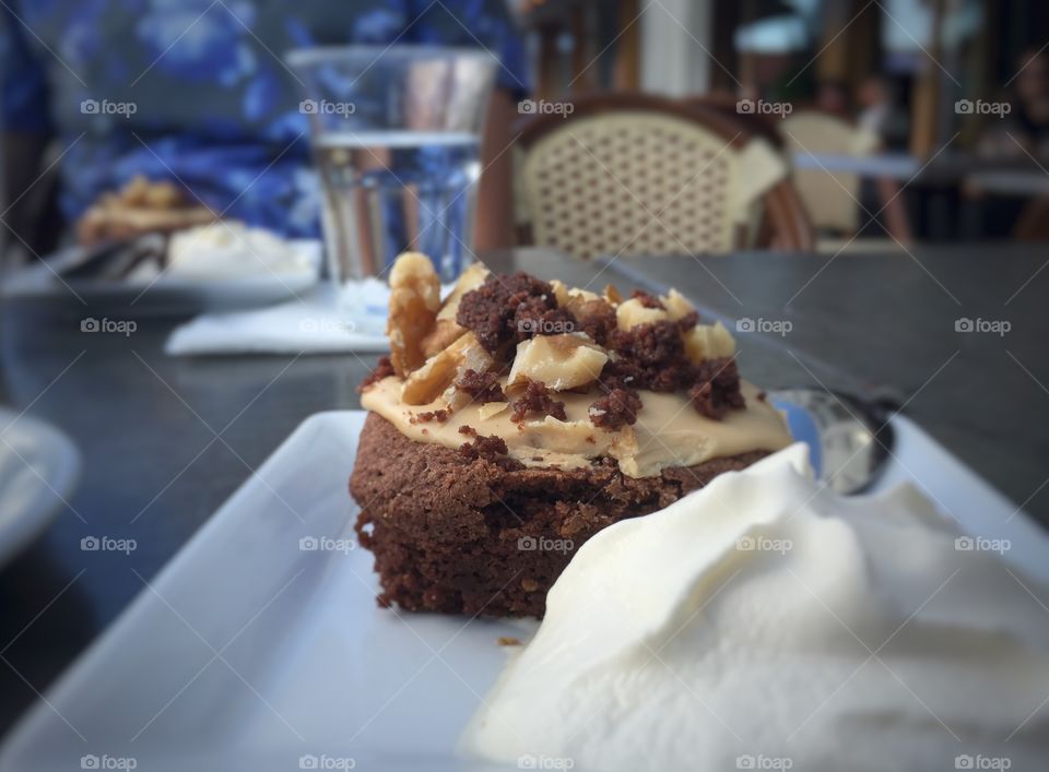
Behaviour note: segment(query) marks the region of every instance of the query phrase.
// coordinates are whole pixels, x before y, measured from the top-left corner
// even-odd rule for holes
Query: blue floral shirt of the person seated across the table
[[[502,0],[5,0],[0,126],[55,135],[75,219],[134,175],[169,179],[226,216],[318,230],[307,116],[281,56],[315,45],[484,47],[526,91]]]

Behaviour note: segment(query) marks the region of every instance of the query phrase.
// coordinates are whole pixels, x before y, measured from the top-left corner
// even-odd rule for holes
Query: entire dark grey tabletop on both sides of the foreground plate
[[[486,262],[596,289],[627,289],[634,282],[621,272],[637,273],[679,286],[733,326],[790,321],[783,337],[739,335],[747,377],[907,402],[908,414],[1017,503],[1029,497],[1027,509],[1045,520],[1049,492],[1037,489],[1049,474],[1049,394],[1036,379],[1049,382],[1049,271],[1005,304],[1041,254],[994,247],[916,256],[960,306],[906,256],[842,256],[826,268],[826,258],[779,254],[606,266],[521,250]],[[0,570],[0,734],[142,590],[140,575],[151,579],[304,418],[357,407],[355,387],[376,358],[175,359],[162,353],[175,320],[139,320],[128,337],[86,334],[87,312],[72,299],[0,309],[0,397],[63,429],[84,456],[69,507]],[[1013,330],[955,333],[960,316],[1009,319]],[[85,536],[134,538],[138,548],[82,551]]]

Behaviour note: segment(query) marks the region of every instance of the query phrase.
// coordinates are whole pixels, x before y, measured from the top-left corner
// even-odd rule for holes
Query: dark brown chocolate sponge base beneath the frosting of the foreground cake
[[[465,438],[463,438],[465,439]],[[584,543],[741,470],[766,451],[633,478],[611,459],[577,470],[507,471],[416,442],[372,413],[350,491],[356,532],[375,555],[384,606],[490,617],[542,617],[546,592]]]

